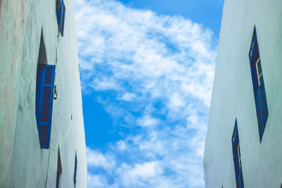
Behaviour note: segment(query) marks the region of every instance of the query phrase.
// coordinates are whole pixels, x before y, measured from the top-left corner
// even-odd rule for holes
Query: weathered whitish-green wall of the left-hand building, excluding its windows
[[[87,187],[85,132],[73,1],[65,0],[64,37],[58,34],[56,0],[0,1],[0,187]],[[40,149],[35,117],[37,59],[43,34],[48,64],[56,65],[51,143]]]

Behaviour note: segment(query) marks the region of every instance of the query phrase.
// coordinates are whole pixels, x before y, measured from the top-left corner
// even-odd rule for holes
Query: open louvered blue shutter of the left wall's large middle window
[[[43,65],[39,73],[37,128],[41,148],[49,149],[55,65]]]

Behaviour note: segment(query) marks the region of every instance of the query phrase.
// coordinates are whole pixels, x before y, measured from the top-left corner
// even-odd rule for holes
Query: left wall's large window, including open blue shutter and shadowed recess
[[[40,146],[43,149],[49,149],[55,65],[45,63],[47,63],[46,51],[43,37],[41,37],[37,64],[35,115]]]

